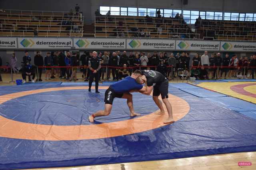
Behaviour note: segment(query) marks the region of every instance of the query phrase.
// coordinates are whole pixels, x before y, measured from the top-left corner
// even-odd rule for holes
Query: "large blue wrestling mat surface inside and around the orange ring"
[[[255,104],[230,97],[198,98],[180,90],[180,86],[172,85],[169,93],[190,105],[188,114],[173,124],[130,135],[90,140],[38,141],[0,137],[0,169],[112,164],[256,151],[256,120],[245,112],[254,110],[251,114],[255,114]],[[64,85],[1,86],[0,94],[53,87]],[[0,115],[42,125],[89,125],[88,115],[104,108],[105,90],[100,92],[61,90],[22,96],[0,104]],[[133,93],[133,101],[135,111],[142,115],[158,109],[152,96]],[[238,109],[230,110],[228,102],[241,107],[240,112],[244,115],[237,113]],[[126,101],[115,98],[111,114],[98,117],[96,121],[109,123],[127,119],[131,118]]]

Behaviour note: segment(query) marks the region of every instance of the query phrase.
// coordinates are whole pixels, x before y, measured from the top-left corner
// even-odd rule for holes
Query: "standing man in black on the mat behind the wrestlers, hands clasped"
[[[92,52],[92,58],[88,61],[88,67],[90,71],[89,77],[89,92],[91,91],[93,78],[95,78],[95,92],[99,93],[98,86],[99,86],[99,70],[101,68],[100,60],[97,58],[97,52]]]

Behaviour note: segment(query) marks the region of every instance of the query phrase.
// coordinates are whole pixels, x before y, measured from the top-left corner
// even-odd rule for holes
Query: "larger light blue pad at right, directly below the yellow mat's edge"
[[[224,97],[224,98],[205,98],[210,100],[211,103],[221,104],[222,106],[229,108],[233,111],[256,111],[256,104],[246,102],[233,97]]]

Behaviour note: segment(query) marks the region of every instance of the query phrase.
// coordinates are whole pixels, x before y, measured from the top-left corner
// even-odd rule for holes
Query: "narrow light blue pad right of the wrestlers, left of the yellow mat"
[[[203,88],[198,88],[198,89],[183,89],[183,88],[180,88],[180,90],[182,90],[184,92],[187,92],[189,94],[192,94],[194,96],[197,96],[199,98],[226,97],[225,94],[212,92],[210,90],[206,90],[206,89],[203,89]]]

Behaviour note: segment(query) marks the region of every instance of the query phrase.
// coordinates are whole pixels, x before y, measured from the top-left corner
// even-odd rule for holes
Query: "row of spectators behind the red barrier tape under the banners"
[[[217,79],[227,77],[249,78],[256,72],[256,55],[250,57],[237,57],[236,54],[221,57],[221,53],[212,53],[210,57],[205,51],[204,55],[188,52],[183,53],[164,53],[154,51],[153,54],[145,52],[123,51],[104,51],[98,52],[97,58],[102,68],[99,70],[99,79],[102,80],[120,80],[132,74],[136,69],[150,69],[161,72],[168,79],[179,77],[186,79],[194,77],[196,79]],[[42,56],[40,51],[34,56],[34,63],[31,63],[31,57],[28,51],[25,51],[22,57],[22,66],[16,67],[17,58],[15,53],[10,59],[10,66],[14,73],[18,73],[22,68],[22,79],[28,81],[42,81],[42,71],[45,69],[45,80],[60,78],[65,80],[78,80],[77,69],[83,74],[84,81],[89,80],[90,70],[88,62],[92,58],[92,51],[84,51],[82,55],[76,52],[52,51],[46,56]],[[79,66],[79,67],[78,67]],[[217,75],[218,74],[218,75]],[[32,76],[32,79],[31,79]],[[37,77],[36,80],[35,77]]]

